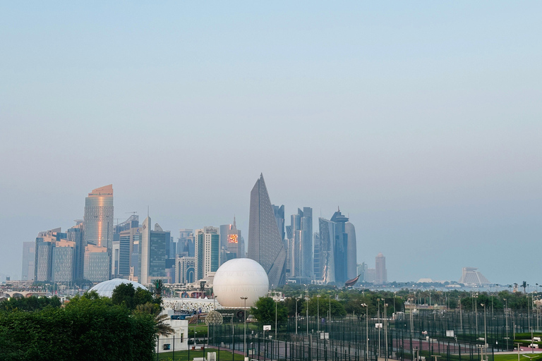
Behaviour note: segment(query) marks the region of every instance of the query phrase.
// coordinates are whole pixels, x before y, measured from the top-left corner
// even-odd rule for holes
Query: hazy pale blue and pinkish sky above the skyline
[[[0,279],[23,242],[115,218],[248,235],[340,207],[389,281],[538,283],[539,1],[0,3]],[[542,281],[540,279],[539,281]],[[542,282],[540,282],[542,284]]]

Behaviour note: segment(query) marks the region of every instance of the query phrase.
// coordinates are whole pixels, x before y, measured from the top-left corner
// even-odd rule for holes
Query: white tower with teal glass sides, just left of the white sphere
[[[205,279],[209,272],[217,271],[220,265],[219,228],[196,229],[195,237],[195,279]]]

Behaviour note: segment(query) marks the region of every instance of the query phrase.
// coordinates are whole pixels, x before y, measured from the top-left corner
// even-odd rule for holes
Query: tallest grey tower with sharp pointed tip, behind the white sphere
[[[262,265],[271,285],[285,283],[286,250],[262,174],[251,190],[248,258]]]

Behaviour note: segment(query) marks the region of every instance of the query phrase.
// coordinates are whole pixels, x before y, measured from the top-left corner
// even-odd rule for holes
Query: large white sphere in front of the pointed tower
[[[241,297],[246,297],[246,307],[251,307],[260,297],[267,295],[269,279],[265,269],[253,259],[230,259],[217,269],[212,281],[212,291],[220,305],[239,307],[245,305]]]

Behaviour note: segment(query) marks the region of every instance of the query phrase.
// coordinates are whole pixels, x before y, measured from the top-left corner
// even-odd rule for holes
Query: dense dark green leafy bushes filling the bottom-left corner
[[[0,360],[152,360],[155,322],[94,295],[0,314]]]

